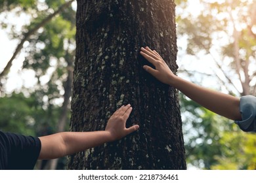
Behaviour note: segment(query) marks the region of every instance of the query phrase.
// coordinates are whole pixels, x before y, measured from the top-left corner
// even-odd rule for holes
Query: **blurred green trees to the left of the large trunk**
[[[18,52],[25,53],[20,75],[32,73],[25,82],[32,87],[22,86],[7,92],[10,59],[1,71],[1,130],[25,135],[49,135],[68,130],[70,119],[70,96],[72,88],[75,50],[75,9],[72,1],[0,1],[1,28],[9,31],[11,39],[19,41],[12,58]],[[23,15],[28,23],[9,22],[9,16],[18,19]],[[22,24],[21,23],[21,24]],[[9,102],[7,102],[9,101]],[[1,114],[1,116],[3,116]],[[10,115],[11,114],[11,115]],[[56,159],[38,163],[38,169],[56,169]],[[58,163],[64,169],[66,158]]]

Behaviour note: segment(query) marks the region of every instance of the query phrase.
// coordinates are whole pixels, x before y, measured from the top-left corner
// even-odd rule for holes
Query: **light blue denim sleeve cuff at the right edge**
[[[240,99],[242,121],[235,121],[243,131],[256,132],[256,97],[246,95]]]

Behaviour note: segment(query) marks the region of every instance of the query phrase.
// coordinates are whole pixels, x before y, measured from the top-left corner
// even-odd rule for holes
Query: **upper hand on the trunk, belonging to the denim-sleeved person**
[[[146,48],[140,48],[140,54],[156,67],[156,69],[153,69],[148,65],[144,65],[143,68],[148,73],[156,77],[161,82],[172,85],[175,75],[158,52],[155,50],[152,51],[148,46],[146,46]]]

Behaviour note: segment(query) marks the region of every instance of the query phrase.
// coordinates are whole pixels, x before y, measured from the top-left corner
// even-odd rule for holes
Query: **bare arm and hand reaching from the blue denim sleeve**
[[[242,120],[239,107],[240,99],[237,97],[202,88],[192,82],[179,78],[173,74],[171,69],[169,69],[168,65],[155,50],[152,51],[148,47],[146,47],[146,49],[141,48],[140,54],[156,67],[156,69],[153,69],[148,65],[144,65],[143,68],[161,82],[177,88],[187,97],[196,101],[196,103],[199,103],[203,107],[221,116],[231,120]]]

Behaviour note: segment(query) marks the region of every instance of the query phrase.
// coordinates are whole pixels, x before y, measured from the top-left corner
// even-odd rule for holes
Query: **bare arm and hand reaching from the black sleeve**
[[[61,132],[39,137],[41,140],[39,159],[59,158],[125,137],[139,129],[139,125],[125,127],[131,110],[131,105],[116,110],[108,120],[105,131]]]

